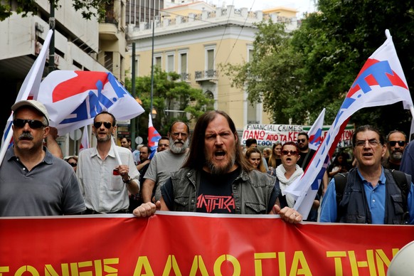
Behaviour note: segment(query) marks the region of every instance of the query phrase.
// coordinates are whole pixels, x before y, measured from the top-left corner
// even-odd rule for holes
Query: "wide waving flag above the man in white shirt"
[[[41,83],[38,101],[46,106],[59,135],[92,124],[106,110],[117,120],[129,120],[144,109],[112,73],[57,70]]]

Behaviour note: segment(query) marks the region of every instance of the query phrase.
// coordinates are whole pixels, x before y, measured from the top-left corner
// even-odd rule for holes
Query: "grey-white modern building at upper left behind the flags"
[[[54,9],[54,65],[46,60],[43,77],[49,70],[93,70],[112,72],[124,82],[125,53],[127,51],[125,26],[126,0],[112,1],[105,6],[105,18],[98,21],[92,17],[83,18],[80,11],[75,11],[72,1],[59,1]],[[18,3],[9,1],[15,11]],[[37,14],[13,13],[0,21],[0,80],[4,85],[6,107],[11,107],[18,90],[28,74],[50,29],[51,5],[48,0],[37,0]],[[51,51],[51,48],[49,48]],[[11,110],[0,111],[0,122],[4,129]],[[73,138],[70,138],[73,137]],[[59,137],[64,155],[76,154],[80,136],[72,134]]]

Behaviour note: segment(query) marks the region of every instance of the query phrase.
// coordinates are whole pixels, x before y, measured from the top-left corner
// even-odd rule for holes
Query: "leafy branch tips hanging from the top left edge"
[[[72,0],[72,6],[75,11],[80,11],[83,18],[90,19],[92,16],[102,18],[105,15],[105,5],[113,3],[115,0]],[[36,14],[38,5],[36,0],[16,0],[16,13],[26,17],[28,14]],[[55,9],[59,9],[59,0],[49,0],[55,5]],[[12,14],[12,6],[4,4],[7,1],[0,1],[0,21],[8,18]]]

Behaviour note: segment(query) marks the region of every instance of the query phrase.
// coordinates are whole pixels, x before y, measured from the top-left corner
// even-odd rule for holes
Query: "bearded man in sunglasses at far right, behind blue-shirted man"
[[[387,149],[389,156],[383,160],[383,167],[387,169],[400,169],[401,159],[405,149],[405,133],[399,130],[393,130],[386,137]]]

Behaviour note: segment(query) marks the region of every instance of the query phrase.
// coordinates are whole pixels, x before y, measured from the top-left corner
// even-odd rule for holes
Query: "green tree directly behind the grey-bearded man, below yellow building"
[[[131,80],[126,79],[125,85],[129,91]],[[139,133],[147,137],[148,115],[151,106],[151,75],[139,77],[135,80],[135,95],[142,100],[145,114],[138,117]],[[171,122],[181,120],[189,122],[196,120],[207,110],[212,110],[214,100],[206,97],[203,90],[191,87],[180,80],[175,72],[166,73],[159,67],[154,68],[154,90],[152,97],[153,107],[156,110],[154,127],[160,134],[167,134]],[[165,110],[179,110],[183,112],[166,112]]]

